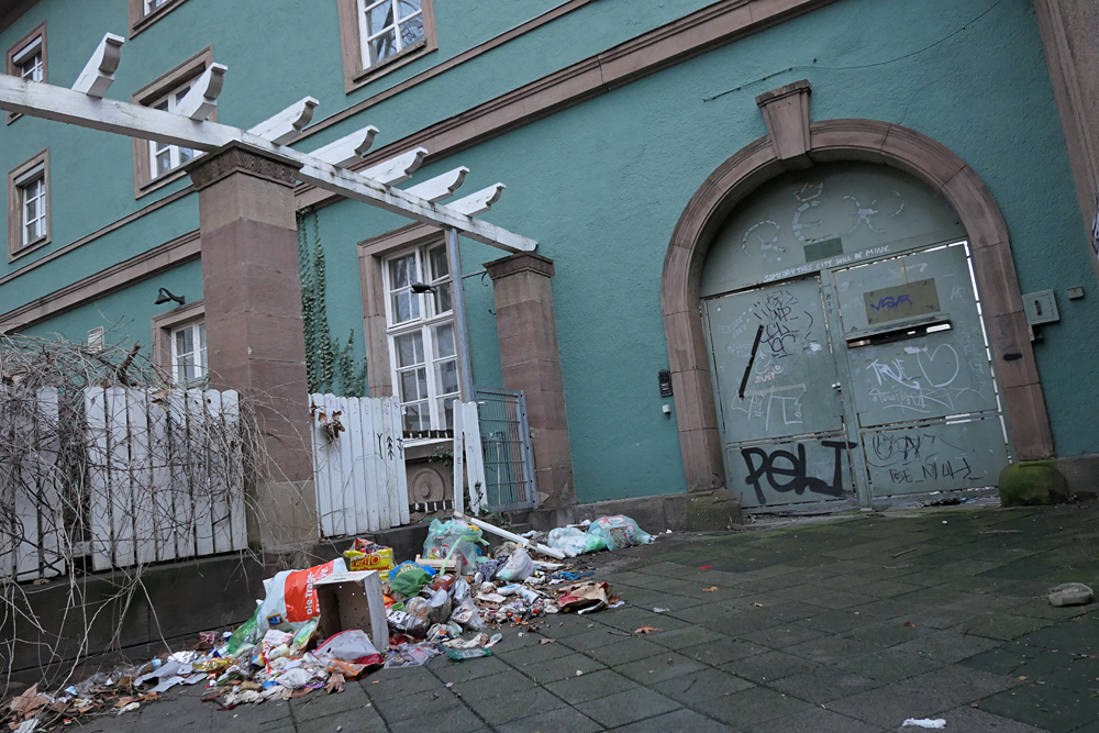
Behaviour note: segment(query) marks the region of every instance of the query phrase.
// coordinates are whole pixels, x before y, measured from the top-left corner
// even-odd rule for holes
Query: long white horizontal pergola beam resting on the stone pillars
[[[359,174],[220,122],[196,122],[163,110],[113,99],[95,99],[71,89],[24,81],[4,74],[0,74],[0,109],[206,152],[234,141],[241,142],[292,160],[301,166],[299,179],[338,196],[425,224],[452,226],[467,238],[507,252],[533,252],[537,247],[534,240],[454,211],[452,207],[431,203],[397,188],[387,188]]]

